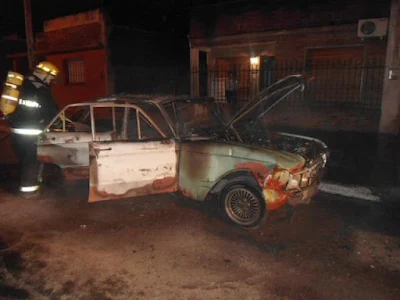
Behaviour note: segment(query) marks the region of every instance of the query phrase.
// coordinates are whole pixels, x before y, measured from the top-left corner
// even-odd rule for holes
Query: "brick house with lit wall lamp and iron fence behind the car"
[[[387,30],[360,37],[359,21],[380,19],[387,24],[390,1],[275,2],[231,1],[192,9],[191,93],[224,102],[227,77],[233,73],[239,100],[246,102],[285,75],[306,74],[314,80],[291,106],[301,102],[321,109],[349,107],[354,114],[362,110],[361,115],[374,118],[370,129],[375,130]]]

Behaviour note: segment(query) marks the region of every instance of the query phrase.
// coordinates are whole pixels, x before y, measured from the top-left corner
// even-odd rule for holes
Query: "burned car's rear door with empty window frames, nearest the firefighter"
[[[57,165],[66,179],[88,179],[89,143],[112,141],[117,134],[113,104],[97,104],[96,110],[91,112],[93,105],[72,104],[64,108],[38,142],[38,161]],[[95,138],[92,118],[99,125]]]

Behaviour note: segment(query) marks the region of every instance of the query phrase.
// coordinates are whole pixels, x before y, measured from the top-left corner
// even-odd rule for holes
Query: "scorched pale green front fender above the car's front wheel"
[[[225,142],[187,142],[181,145],[179,189],[202,201],[232,171],[250,171],[262,186],[269,170],[276,166],[294,168],[299,164],[304,164],[303,157],[283,151]]]

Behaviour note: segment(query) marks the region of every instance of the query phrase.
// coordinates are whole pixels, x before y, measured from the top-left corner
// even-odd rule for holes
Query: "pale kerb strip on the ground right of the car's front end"
[[[321,182],[319,190],[329,194],[345,197],[380,202],[380,198],[372,194],[372,191],[363,186],[346,186],[336,183]]]

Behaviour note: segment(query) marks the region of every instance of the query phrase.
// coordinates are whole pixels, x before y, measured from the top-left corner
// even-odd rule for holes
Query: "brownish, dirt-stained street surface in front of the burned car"
[[[320,194],[243,231],[173,195],[0,187],[0,299],[400,299],[400,209]]]

